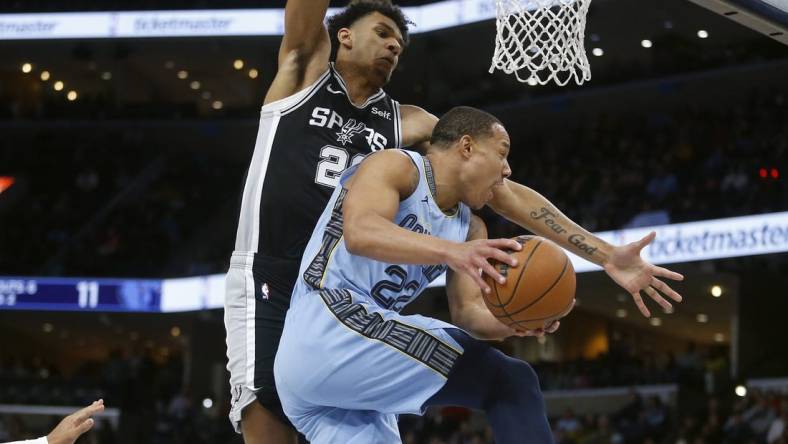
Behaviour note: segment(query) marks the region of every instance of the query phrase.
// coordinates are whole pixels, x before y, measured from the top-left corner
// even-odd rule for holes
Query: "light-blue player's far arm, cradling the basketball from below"
[[[487,239],[487,227],[480,218],[471,216],[467,240],[479,239]],[[487,309],[482,292],[473,279],[453,270],[446,274],[446,295],[452,323],[477,339],[500,341],[510,336],[542,336],[556,331],[560,325],[559,321],[555,321],[545,331],[516,330],[504,325]]]

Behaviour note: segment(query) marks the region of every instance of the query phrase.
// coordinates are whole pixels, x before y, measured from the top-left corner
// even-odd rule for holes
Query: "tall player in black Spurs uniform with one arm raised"
[[[276,393],[273,362],[301,255],[340,174],[374,151],[427,145],[438,121],[381,89],[408,40],[408,21],[399,8],[388,0],[356,0],[331,17],[326,29],[328,3],[287,2],[279,69],[261,110],[227,274],[230,419],[246,444],[297,442]],[[681,276],[639,256],[653,234],[614,248],[538,193],[508,180],[489,205],[604,266],[646,316],[640,291],[665,309],[670,303],[657,290],[680,300],[657,276]],[[487,263],[496,251],[480,244],[463,253],[468,274],[485,291],[489,288],[474,271],[500,277]]]

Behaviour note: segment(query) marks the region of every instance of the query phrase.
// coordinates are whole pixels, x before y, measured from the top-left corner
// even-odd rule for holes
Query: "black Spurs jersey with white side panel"
[[[342,172],[401,140],[399,103],[381,89],[354,105],[333,64],[308,88],[263,106],[235,251],[289,293]]]

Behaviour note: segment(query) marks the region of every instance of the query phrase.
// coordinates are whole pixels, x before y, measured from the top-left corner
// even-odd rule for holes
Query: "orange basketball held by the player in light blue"
[[[504,277],[500,285],[486,274],[492,291],[484,302],[504,324],[517,329],[544,328],[566,316],[575,299],[575,269],[558,245],[540,236],[513,238],[523,248],[513,251],[517,266],[495,261],[493,265]]]

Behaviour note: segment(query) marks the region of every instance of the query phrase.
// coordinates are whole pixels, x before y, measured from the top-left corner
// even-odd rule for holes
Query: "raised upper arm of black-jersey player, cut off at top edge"
[[[328,3],[328,0],[287,1],[279,69],[264,103],[295,94],[314,83],[328,69],[331,40],[323,24]]]

